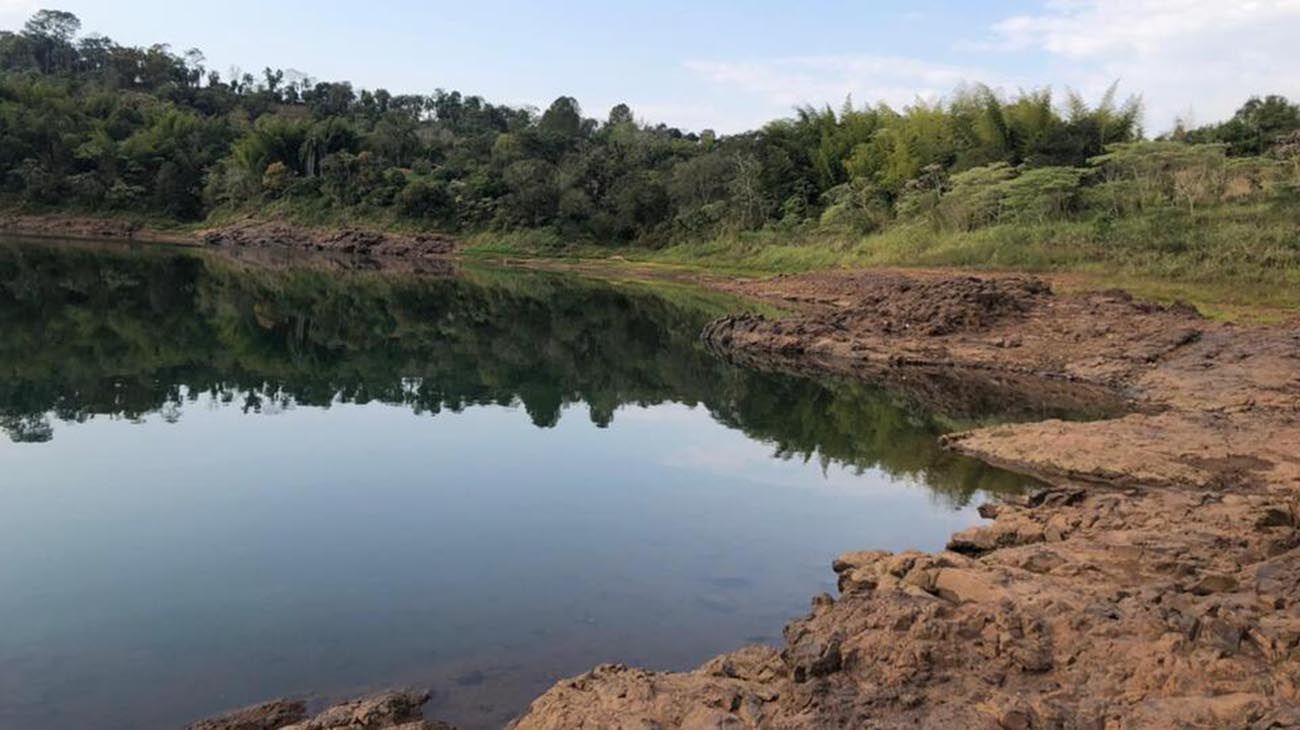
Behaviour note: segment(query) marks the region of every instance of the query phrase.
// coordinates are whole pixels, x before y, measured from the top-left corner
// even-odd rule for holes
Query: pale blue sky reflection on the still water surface
[[[176,423],[55,430],[0,439],[0,727],[166,726],[403,682],[493,725],[599,661],[775,640],[840,552],[935,549],[976,518],[681,405],[537,429],[499,407],[200,397]]]

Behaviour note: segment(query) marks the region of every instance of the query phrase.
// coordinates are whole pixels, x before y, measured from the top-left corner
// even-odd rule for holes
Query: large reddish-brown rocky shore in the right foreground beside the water
[[[896,382],[945,369],[1009,382],[1009,397],[1032,375],[1128,409],[949,436],[1050,486],[985,505],[992,522],[944,553],[842,556],[840,596],[816,598],[781,649],[689,673],[599,666],[515,730],[1300,727],[1300,327],[1056,296],[1024,277],[725,288],[801,310],[706,330],[749,365]]]

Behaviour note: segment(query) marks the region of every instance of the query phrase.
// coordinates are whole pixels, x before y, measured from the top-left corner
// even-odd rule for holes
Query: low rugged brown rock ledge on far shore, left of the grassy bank
[[[324,251],[382,258],[430,258],[455,253],[452,239],[438,234],[398,234],[363,229],[308,229],[248,221],[204,231],[208,245]]]

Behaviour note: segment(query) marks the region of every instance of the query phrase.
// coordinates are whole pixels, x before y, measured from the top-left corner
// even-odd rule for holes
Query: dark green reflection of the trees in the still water
[[[965,499],[1014,477],[941,452],[942,421],[866,383],[737,369],[699,344],[715,316],[641,288],[537,273],[459,278],[264,270],[207,255],[0,245],[0,427],[48,417],[176,418],[209,394],[269,404],[567,404],[608,426],[624,404],[703,404],[777,456],[879,468]]]

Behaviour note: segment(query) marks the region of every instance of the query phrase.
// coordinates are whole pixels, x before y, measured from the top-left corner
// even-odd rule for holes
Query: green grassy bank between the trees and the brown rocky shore
[[[1277,204],[1178,209],[1110,221],[1004,223],[972,231],[927,223],[853,235],[764,230],[664,248],[569,244],[547,231],[469,236],[477,256],[604,258],[731,274],[932,266],[1071,274],[1067,287],[1121,287],[1190,301],[1212,316],[1279,318],[1300,310],[1300,210]]]

